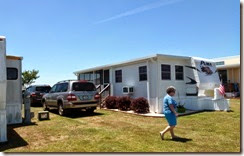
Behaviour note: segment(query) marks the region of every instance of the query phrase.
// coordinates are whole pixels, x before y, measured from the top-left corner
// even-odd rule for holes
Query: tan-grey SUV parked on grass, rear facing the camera
[[[78,80],[66,80],[55,84],[42,98],[44,110],[58,108],[59,115],[67,110],[86,109],[92,113],[99,102],[100,95],[93,83]]]

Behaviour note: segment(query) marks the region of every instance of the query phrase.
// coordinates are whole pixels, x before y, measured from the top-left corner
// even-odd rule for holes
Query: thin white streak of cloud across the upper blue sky
[[[122,17],[135,15],[135,14],[142,13],[142,12],[145,12],[145,11],[148,11],[148,10],[160,8],[160,7],[165,6],[165,5],[174,4],[174,3],[177,3],[177,2],[180,2],[180,1],[182,1],[182,0],[160,0],[160,1],[157,1],[155,3],[150,3],[150,4],[147,4],[147,5],[144,5],[144,6],[141,6],[141,7],[138,7],[138,8],[135,8],[135,9],[128,10],[126,12],[117,14],[115,16],[100,20],[100,21],[96,22],[96,24],[105,23],[105,22],[109,22],[109,21],[112,21],[112,20],[116,20],[116,19],[122,18]]]

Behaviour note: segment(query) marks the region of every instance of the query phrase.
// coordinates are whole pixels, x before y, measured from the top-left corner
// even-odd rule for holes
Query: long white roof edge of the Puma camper
[[[171,57],[171,58],[181,58],[181,59],[189,59],[189,58],[191,58],[191,57],[187,57],[187,56],[154,54],[154,55],[141,57],[141,58],[137,58],[137,59],[131,59],[131,60],[128,60],[128,61],[122,61],[122,62],[118,62],[118,63],[112,63],[112,64],[103,65],[103,66],[97,66],[97,67],[93,67],[93,68],[79,70],[79,71],[74,72],[74,74],[76,75],[78,73],[85,73],[85,72],[89,72],[89,71],[95,71],[95,70],[100,70],[100,69],[104,69],[104,68],[110,68],[110,67],[124,65],[124,64],[129,64],[129,63],[133,63],[133,62],[144,61],[144,60],[152,59],[154,57]]]

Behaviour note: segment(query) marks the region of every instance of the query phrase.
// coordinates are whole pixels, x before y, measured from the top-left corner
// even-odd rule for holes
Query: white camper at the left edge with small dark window
[[[7,141],[7,124],[22,123],[21,57],[6,56],[0,36],[0,142]]]

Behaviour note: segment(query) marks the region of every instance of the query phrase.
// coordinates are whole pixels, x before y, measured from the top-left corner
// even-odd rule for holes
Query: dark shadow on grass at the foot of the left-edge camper
[[[6,143],[0,143],[0,152],[12,148],[27,146],[28,143],[14,129],[18,127],[33,126],[33,125],[36,126],[35,123],[31,123],[28,125],[27,124],[9,125],[7,127],[8,141]]]

